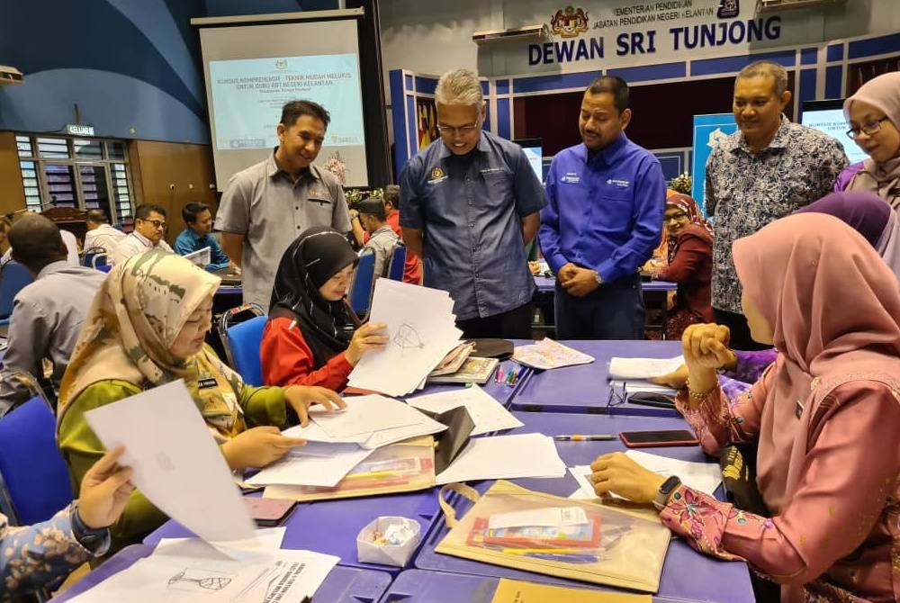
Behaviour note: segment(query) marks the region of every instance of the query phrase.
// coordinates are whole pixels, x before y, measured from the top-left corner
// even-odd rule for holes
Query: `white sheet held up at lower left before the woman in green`
[[[254,524],[219,446],[184,383],[176,381],[85,412],[107,450],[160,510],[206,540],[253,536]]]

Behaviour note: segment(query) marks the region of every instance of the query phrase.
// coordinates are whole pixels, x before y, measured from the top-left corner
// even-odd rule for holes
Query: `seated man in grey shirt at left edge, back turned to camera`
[[[106,274],[87,266],[70,266],[57,225],[36,213],[13,225],[9,242],[13,259],[28,268],[34,283],[15,296],[0,376],[4,386],[17,371],[40,380],[46,358],[53,365],[52,388],[58,392],[78,333]],[[23,401],[15,399],[21,390],[4,387],[0,393],[0,414],[14,402]]]

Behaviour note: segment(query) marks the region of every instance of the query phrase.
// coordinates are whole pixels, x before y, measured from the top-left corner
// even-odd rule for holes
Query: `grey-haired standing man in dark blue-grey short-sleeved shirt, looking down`
[[[482,84],[467,69],[437,82],[441,138],[401,175],[403,241],[421,257],[425,285],[454,299],[466,338],[530,338],[535,281],[525,246],[544,191],[525,152],[482,131]]]

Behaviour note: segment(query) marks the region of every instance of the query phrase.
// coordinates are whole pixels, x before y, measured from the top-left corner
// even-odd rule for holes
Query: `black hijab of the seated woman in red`
[[[304,230],[278,265],[269,317],[297,321],[317,369],[347,349],[355,325],[347,304],[325,301],[319,288],[356,260],[344,235],[320,226]]]

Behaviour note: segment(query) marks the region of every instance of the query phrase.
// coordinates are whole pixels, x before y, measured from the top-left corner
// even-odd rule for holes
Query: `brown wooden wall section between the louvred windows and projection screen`
[[[214,180],[208,145],[135,140],[130,161],[135,204],[158,203],[166,208],[169,243],[184,229],[181,210],[186,203],[206,203],[215,214],[218,194],[210,188]]]

